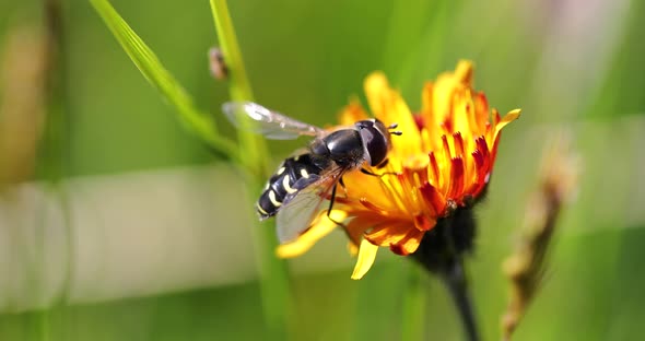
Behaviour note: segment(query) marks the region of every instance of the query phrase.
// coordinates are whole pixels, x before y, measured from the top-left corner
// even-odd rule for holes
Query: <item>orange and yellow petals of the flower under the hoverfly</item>
[[[385,167],[366,166],[382,177],[360,172],[343,177],[344,191],[339,190],[331,216],[347,222],[350,250],[359,255],[352,279],[370,270],[379,246],[410,255],[437,220],[481,196],[493,170],[501,130],[519,116],[518,109],[504,118],[489,109],[484,94],[472,89],[469,61],[425,84],[417,115],[380,72],[367,77],[365,93],[374,116],[386,126],[398,124],[403,134],[392,138]],[[366,118],[361,105],[351,103],[340,121],[352,125]],[[296,240],[279,246],[278,255],[298,256],[337,227],[326,213]]]

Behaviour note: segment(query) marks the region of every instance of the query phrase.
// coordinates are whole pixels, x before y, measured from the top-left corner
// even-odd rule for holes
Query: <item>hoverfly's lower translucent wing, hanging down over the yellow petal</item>
[[[297,191],[294,197],[284,200],[285,203],[275,217],[278,239],[281,244],[297,238],[309,228],[320,211],[328,209],[327,198],[344,172],[343,168],[331,170],[315,184]]]

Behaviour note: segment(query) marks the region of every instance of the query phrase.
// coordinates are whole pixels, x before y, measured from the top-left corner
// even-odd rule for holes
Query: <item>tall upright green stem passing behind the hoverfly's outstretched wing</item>
[[[211,0],[210,4],[220,47],[230,71],[231,98],[233,101],[254,101],[226,1]],[[250,124],[243,121],[243,128],[244,125]],[[248,172],[247,175],[249,175],[247,195],[255,199],[255,196],[261,191],[265,181],[269,152],[263,140],[253,133],[250,129],[241,129],[238,133],[239,157]],[[278,243],[272,232],[273,228],[267,225],[256,223],[251,226],[256,261],[260,272],[262,308],[267,328],[270,332],[268,339],[284,340],[288,336],[288,321],[292,307],[290,281],[286,263],[278,259],[274,254]]]

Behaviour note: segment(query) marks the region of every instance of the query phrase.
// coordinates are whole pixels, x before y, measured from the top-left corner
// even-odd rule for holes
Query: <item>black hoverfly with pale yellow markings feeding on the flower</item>
[[[401,134],[392,130],[397,128],[396,124],[386,127],[375,118],[329,131],[253,102],[228,102],[222,109],[235,126],[241,126],[243,116],[251,119],[254,130],[268,139],[314,138],[306,149],[295,152],[278,166],[256,203],[260,220],[277,215],[280,243],[293,240],[306,231],[325,201],[329,201],[329,216],[338,185],[344,187],[343,175],[360,169],[379,176],[363,165],[385,166],[391,149],[390,134]]]

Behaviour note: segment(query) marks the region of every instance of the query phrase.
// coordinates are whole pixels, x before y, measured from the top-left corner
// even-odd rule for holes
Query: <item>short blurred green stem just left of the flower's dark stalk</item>
[[[422,271],[415,264],[408,264],[401,321],[401,340],[424,339],[426,287],[423,286]]]

